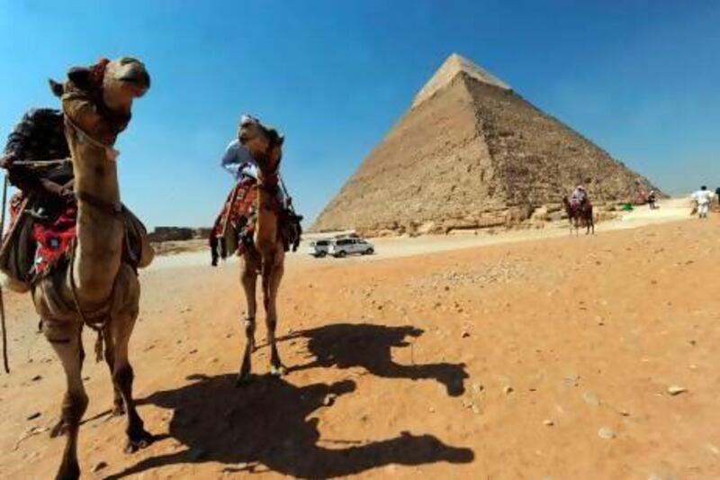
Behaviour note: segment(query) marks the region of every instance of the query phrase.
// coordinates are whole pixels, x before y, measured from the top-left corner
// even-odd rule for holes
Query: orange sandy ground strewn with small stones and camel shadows
[[[89,358],[85,477],[716,478],[720,217],[622,222],[410,257],[290,256],[278,333],[291,372],[266,376],[262,348],[240,389],[238,266],[159,258],[131,342],[158,439],[122,453],[106,367]],[[47,478],[64,377],[30,299],[6,303],[0,472]]]

